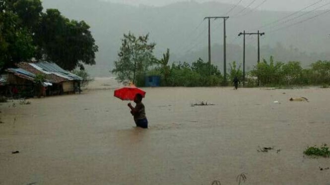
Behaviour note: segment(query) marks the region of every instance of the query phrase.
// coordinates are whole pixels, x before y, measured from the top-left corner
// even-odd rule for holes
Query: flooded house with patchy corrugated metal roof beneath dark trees
[[[1,78],[6,79],[1,84],[6,85],[6,95],[12,95],[12,89],[18,89],[19,93],[26,96],[32,95],[58,95],[63,93],[80,93],[82,78],[62,69],[52,62],[20,62],[18,68],[9,68]],[[38,75],[45,77],[41,84],[35,83]],[[40,86],[42,85],[42,86]],[[24,93],[26,89],[33,93]]]

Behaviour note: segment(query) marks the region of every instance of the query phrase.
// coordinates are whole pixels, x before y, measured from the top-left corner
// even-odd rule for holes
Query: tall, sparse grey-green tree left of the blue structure
[[[115,61],[112,73],[121,82],[133,82],[142,79],[148,68],[156,63],[153,55],[155,43],[148,43],[149,35],[135,37],[131,32],[124,34],[122,46],[118,52],[119,59]]]

